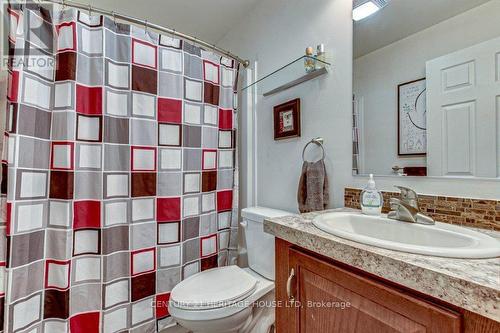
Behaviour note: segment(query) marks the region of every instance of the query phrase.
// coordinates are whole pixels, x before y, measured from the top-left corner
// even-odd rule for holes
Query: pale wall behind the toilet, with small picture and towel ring
[[[351,0],[266,0],[218,43],[257,61],[259,77],[301,56],[309,45],[324,43],[333,59],[328,76],[257,100],[259,205],[297,211],[302,148],[317,136],[325,139],[331,206],[343,204],[343,189],[351,180],[351,12]],[[296,97],[302,103],[302,136],[274,141],[272,107]],[[247,154],[245,146],[241,153]]]

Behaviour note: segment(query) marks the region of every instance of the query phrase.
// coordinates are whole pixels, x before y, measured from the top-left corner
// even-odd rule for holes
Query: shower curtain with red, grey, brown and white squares
[[[87,11],[7,15],[1,326],[171,325],[172,288],[234,262],[239,65]]]

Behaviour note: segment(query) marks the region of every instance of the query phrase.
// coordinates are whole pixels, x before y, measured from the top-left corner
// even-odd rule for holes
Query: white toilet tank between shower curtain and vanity
[[[274,281],[274,236],[264,232],[267,218],[293,215],[293,213],[265,207],[249,207],[241,211],[248,253],[248,266]]]

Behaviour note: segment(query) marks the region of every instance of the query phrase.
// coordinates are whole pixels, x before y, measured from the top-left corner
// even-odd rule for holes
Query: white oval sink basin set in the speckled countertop
[[[421,225],[357,212],[325,213],[313,224],[329,234],[389,250],[447,258],[494,258],[500,241],[467,228],[436,222]]]

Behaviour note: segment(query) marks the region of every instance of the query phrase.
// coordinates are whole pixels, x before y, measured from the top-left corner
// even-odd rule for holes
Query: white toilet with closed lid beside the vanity
[[[249,268],[218,267],[181,281],[169,301],[177,323],[195,333],[267,333],[274,323],[274,237],[264,233],[262,222],[291,214],[243,209]]]

